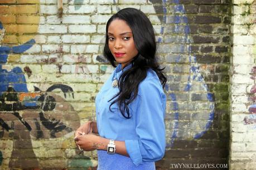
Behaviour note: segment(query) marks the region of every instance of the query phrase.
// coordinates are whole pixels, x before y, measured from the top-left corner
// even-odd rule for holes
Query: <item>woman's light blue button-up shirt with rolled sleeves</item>
[[[158,161],[165,154],[166,95],[157,74],[152,69],[148,69],[147,77],[139,84],[138,96],[129,104],[131,118],[122,116],[117,103],[112,105],[112,112],[109,111],[111,101],[108,101],[119,91],[118,87],[112,87],[112,81],[119,79],[122,73],[131,67],[132,64],[129,64],[122,70],[119,64],[105,82],[96,96],[96,119],[99,135],[125,141],[130,156],[127,158],[138,166],[143,162]],[[98,157],[100,156],[102,153],[99,155],[98,152]],[[119,154],[112,157],[117,159],[117,156],[123,157]]]

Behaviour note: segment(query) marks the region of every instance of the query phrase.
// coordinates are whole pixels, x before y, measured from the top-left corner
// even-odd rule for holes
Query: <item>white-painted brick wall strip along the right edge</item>
[[[234,1],[230,168],[255,169],[255,1]]]

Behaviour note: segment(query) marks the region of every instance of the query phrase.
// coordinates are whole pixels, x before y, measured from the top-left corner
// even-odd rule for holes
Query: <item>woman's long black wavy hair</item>
[[[122,19],[132,29],[135,47],[138,51],[137,56],[132,60],[132,67],[125,70],[118,80],[119,92],[109,100],[112,103],[118,103],[119,110],[125,118],[131,118],[129,113],[129,104],[134,101],[138,95],[139,83],[147,76],[149,68],[156,72],[161,81],[162,87],[165,86],[166,77],[163,74],[163,69],[160,68],[156,60],[156,38],[154,29],[147,16],[134,8],[124,8],[109,18],[106,26],[106,40],[104,46],[104,56],[112,64],[115,65],[115,58],[109,49],[108,27],[114,19]],[[114,100],[113,100],[114,99]],[[126,112],[126,114],[125,114]]]

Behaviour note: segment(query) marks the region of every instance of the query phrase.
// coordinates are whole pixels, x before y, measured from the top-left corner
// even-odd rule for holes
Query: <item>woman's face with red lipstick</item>
[[[108,27],[108,46],[115,61],[122,68],[138,54],[135,48],[132,29],[121,19],[114,19]]]

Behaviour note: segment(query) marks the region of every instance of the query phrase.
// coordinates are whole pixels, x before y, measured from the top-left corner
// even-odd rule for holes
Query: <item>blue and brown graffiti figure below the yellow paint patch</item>
[[[36,155],[33,153],[32,142],[28,141],[30,135],[36,139],[59,138],[73,132],[80,126],[79,117],[74,109],[67,106],[66,103],[61,104],[61,101],[64,100],[52,93],[55,89],[60,89],[65,98],[66,93],[71,93],[74,98],[71,87],[64,84],[54,84],[45,93],[37,87],[35,87],[35,92],[28,92],[26,79],[20,67],[15,67],[10,72],[2,69],[2,65],[7,62],[8,53],[22,53],[32,46],[31,43],[33,44],[35,41],[31,40],[21,46],[1,46],[0,48],[0,125],[2,127],[0,137],[18,138],[13,142],[13,151],[9,161],[10,168],[24,167],[25,164],[32,167],[39,166]],[[70,112],[57,112],[58,108],[63,106],[70,108]],[[28,159],[27,162],[20,161],[20,158],[23,158],[22,155],[24,156],[24,151],[19,147],[22,145],[28,148],[25,156],[33,159]]]

